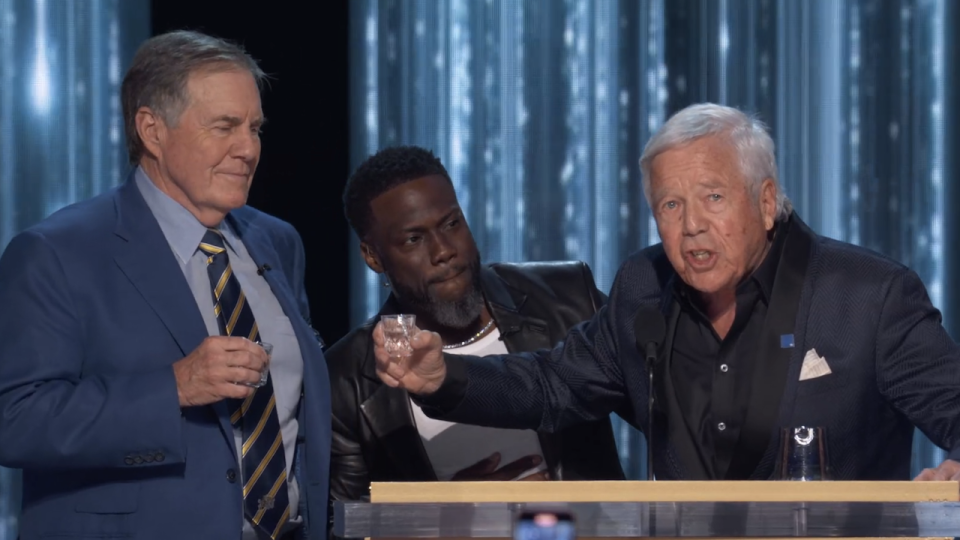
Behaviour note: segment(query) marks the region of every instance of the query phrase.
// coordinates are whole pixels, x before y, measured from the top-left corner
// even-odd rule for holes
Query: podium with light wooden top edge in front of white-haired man
[[[374,483],[334,504],[340,538],[510,538],[523,508],[563,507],[577,538],[956,538],[958,482]]]

